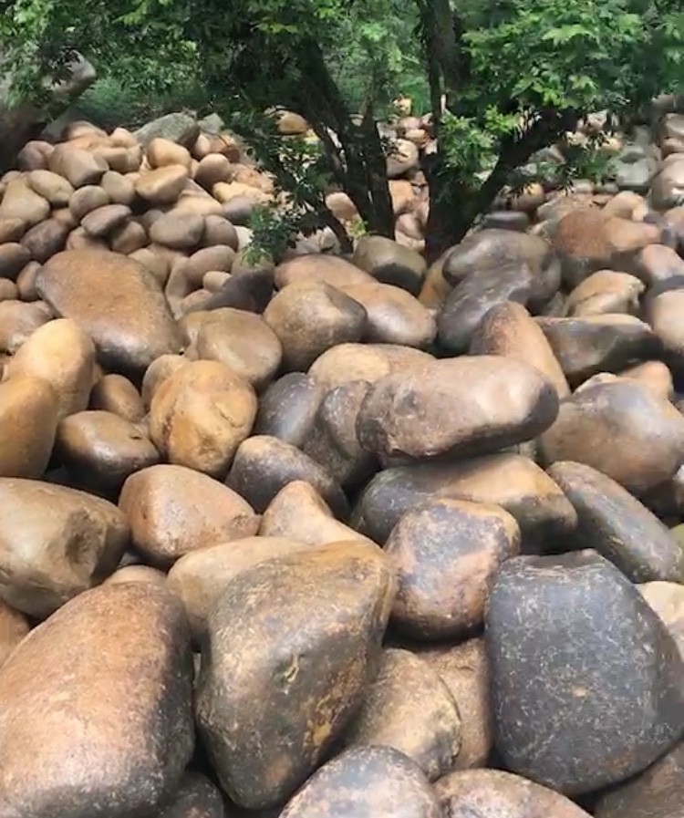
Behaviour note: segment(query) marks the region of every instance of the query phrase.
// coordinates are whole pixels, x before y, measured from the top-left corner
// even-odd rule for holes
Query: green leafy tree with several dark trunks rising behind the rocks
[[[534,153],[597,109],[624,114],[684,76],[680,0],[16,0],[0,36],[17,94],[78,48],[152,88],[195,72],[275,173],[291,226],[347,237],[326,185],[392,236],[378,118],[400,83],[425,88],[437,150],[427,252],[457,243]],[[71,21],[78,19],[78,26]],[[123,55],[123,57],[122,57]],[[302,114],[319,140],[284,144],[264,110]],[[483,172],[484,171],[484,172]]]

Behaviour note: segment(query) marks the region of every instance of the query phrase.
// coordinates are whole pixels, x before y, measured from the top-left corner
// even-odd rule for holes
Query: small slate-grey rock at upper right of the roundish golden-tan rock
[[[324,395],[324,388],[303,372],[278,378],[259,399],[254,434],[271,435],[302,447]]]

